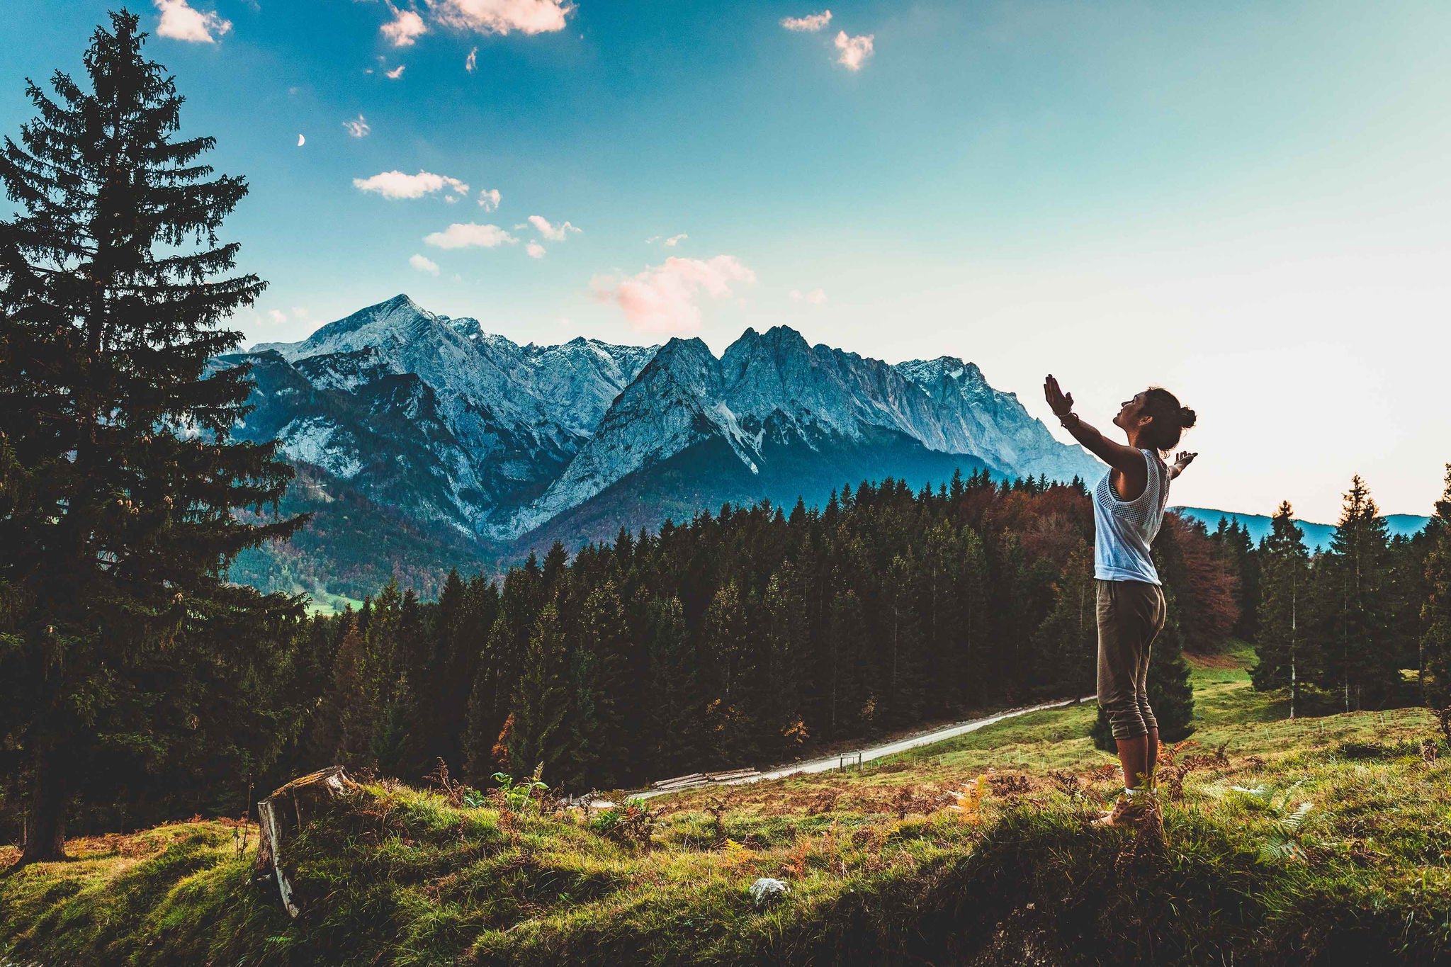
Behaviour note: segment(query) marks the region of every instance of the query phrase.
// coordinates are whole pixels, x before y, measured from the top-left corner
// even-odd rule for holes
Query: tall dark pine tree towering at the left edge
[[[19,603],[0,732],[32,786],[23,861],[64,854],[97,735],[168,747],[168,696],[116,718],[154,664],[181,667],[167,647],[205,648],[209,622],[235,632],[293,606],[222,580],[238,552],[300,523],[232,516],[276,507],[292,470],[274,444],[229,442],[248,367],[207,368],[239,341],[218,323],[263,290],[226,275],[237,245],[216,241],[247,186],[200,164],[212,138],[176,136],[181,97],[136,25],[122,12],[96,30],[89,90],[62,72],[54,99],[29,84],[39,116],[0,152],[16,210],[0,222],[0,435],[32,489],[0,515],[0,583]],[[245,635],[213,645],[241,649],[215,661],[250,661]]]

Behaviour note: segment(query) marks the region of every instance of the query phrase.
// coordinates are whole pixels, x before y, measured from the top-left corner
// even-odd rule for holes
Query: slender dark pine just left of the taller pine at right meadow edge
[[[1288,500],[1280,505],[1270,522],[1259,561],[1261,599],[1255,616],[1259,629],[1255,654],[1259,661],[1249,670],[1249,680],[1261,692],[1288,689],[1293,719],[1300,707],[1300,683],[1313,663],[1306,663],[1310,648],[1304,634],[1310,555]]]

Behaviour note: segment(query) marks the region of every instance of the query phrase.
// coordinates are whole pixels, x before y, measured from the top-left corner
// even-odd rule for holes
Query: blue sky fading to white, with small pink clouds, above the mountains
[[[400,291],[518,342],[788,325],[955,355],[1059,431],[1199,413],[1174,503],[1431,513],[1451,461],[1451,4],[132,0],[251,186],[245,344]],[[22,0],[25,80],[106,3]]]

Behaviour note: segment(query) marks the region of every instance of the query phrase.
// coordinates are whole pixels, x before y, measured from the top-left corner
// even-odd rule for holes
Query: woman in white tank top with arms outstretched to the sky
[[[1170,502],[1170,481],[1199,454],[1180,452],[1165,464],[1162,452],[1178,445],[1194,425],[1194,410],[1168,390],[1149,387],[1127,400],[1113,425],[1127,445],[1114,442],[1074,413],[1072,393],[1052,375],[1043,383],[1048,406],[1064,428],[1109,464],[1093,491],[1094,578],[1098,584],[1098,707],[1109,715],[1123,765],[1123,794],[1098,822],[1125,825],[1154,800],[1154,763],[1159,726],[1149,707],[1149,647],[1164,628],[1164,592],[1149,557]]]

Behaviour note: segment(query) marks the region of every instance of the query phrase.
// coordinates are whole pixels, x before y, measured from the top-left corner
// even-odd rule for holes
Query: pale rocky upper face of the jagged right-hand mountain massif
[[[881,431],[916,439],[927,451],[981,457],[1006,474],[1069,480],[1097,473],[1088,454],[1055,441],[1016,396],[990,387],[975,365],[943,357],[892,367],[811,346],[794,329],[775,326],[765,333],[746,329],[718,361],[699,339],[666,344],[564,473],[515,515],[511,531],[537,528],[710,438],[726,441],[759,474],[769,464],[768,444],[800,441],[829,461],[833,449]],[[892,468],[884,465],[881,473]]]

